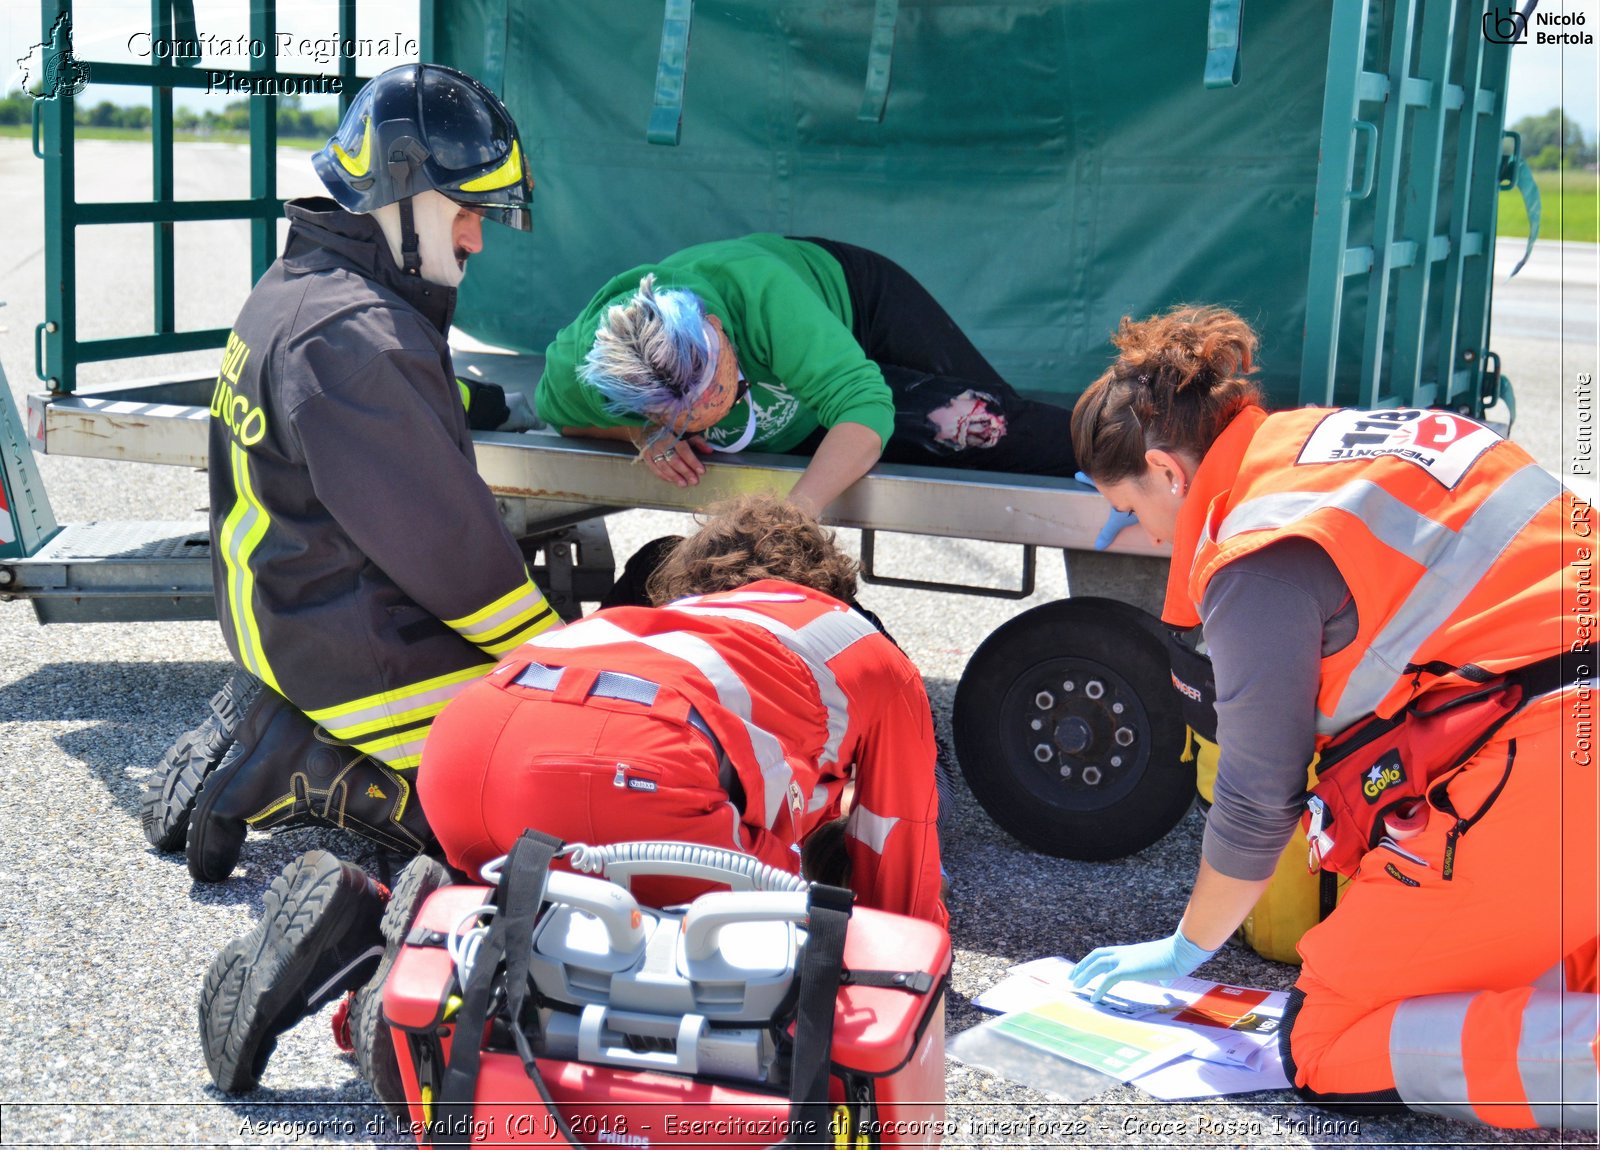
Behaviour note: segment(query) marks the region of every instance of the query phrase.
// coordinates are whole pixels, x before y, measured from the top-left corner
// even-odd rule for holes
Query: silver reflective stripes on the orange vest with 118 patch
[[[1286,528],[1312,512],[1336,509],[1362,520],[1379,542],[1424,568],[1405,603],[1373,637],[1350,672],[1334,713],[1318,712],[1317,733],[1328,736],[1378,709],[1427,638],[1454,614],[1506,547],[1560,494],[1562,485],[1554,477],[1528,464],[1491,491],[1459,531],[1451,531],[1376,483],[1357,480],[1326,493],[1288,491],[1250,499],[1227,513],[1216,542],[1246,531]]]

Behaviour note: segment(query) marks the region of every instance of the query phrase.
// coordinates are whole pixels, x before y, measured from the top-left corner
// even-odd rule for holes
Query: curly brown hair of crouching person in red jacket
[[[704,512],[701,529],[662,560],[645,584],[661,605],[685,595],[733,590],[757,579],[786,579],[850,601],[861,565],[834,533],[784,499],[739,496]]]

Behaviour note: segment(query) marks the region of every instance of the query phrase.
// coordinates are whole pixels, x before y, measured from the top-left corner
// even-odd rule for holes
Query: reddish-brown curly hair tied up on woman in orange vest
[[[1122,317],[1122,352],[1072,408],[1078,467],[1101,483],[1138,478],[1150,448],[1200,459],[1234,416],[1262,406],[1259,341],[1226,307],[1179,305],[1134,323]]]

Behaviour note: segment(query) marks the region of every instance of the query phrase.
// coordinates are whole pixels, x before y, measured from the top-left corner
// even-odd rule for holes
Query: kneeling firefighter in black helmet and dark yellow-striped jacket
[[[146,787],[146,837],[221,881],[246,829],[331,822],[416,853],[432,717],[558,625],[478,478],[507,416],[451,366],[483,221],[530,230],[517,126],[472,77],[371,80],[293,200],[211,398],[211,553],[238,672]],[[485,414],[483,408],[490,408]]]

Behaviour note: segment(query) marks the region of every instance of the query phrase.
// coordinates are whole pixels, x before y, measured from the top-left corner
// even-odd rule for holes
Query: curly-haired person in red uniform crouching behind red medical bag
[[[670,601],[538,635],[438,717],[418,790],[450,864],[475,876],[526,827],[595,845],[707,843],[790,873],[802,845],[822,843],[806,849],[808,875],[944,924],[928,699],[899,648],[845,606],[856,563],[832,533],[790,502],[746,497],[651,587]],[[378,1096],[403,1100],[379,990],[421,902],[448,880],[421,857],[387,899],[323,851],[291,862],[254,931],[206,974],[200,1038],[216,1084],[251,1089],[278,1035],[360,987],[350,1044]],[[662,905],[706,884],[635,878],[632,889]]]

